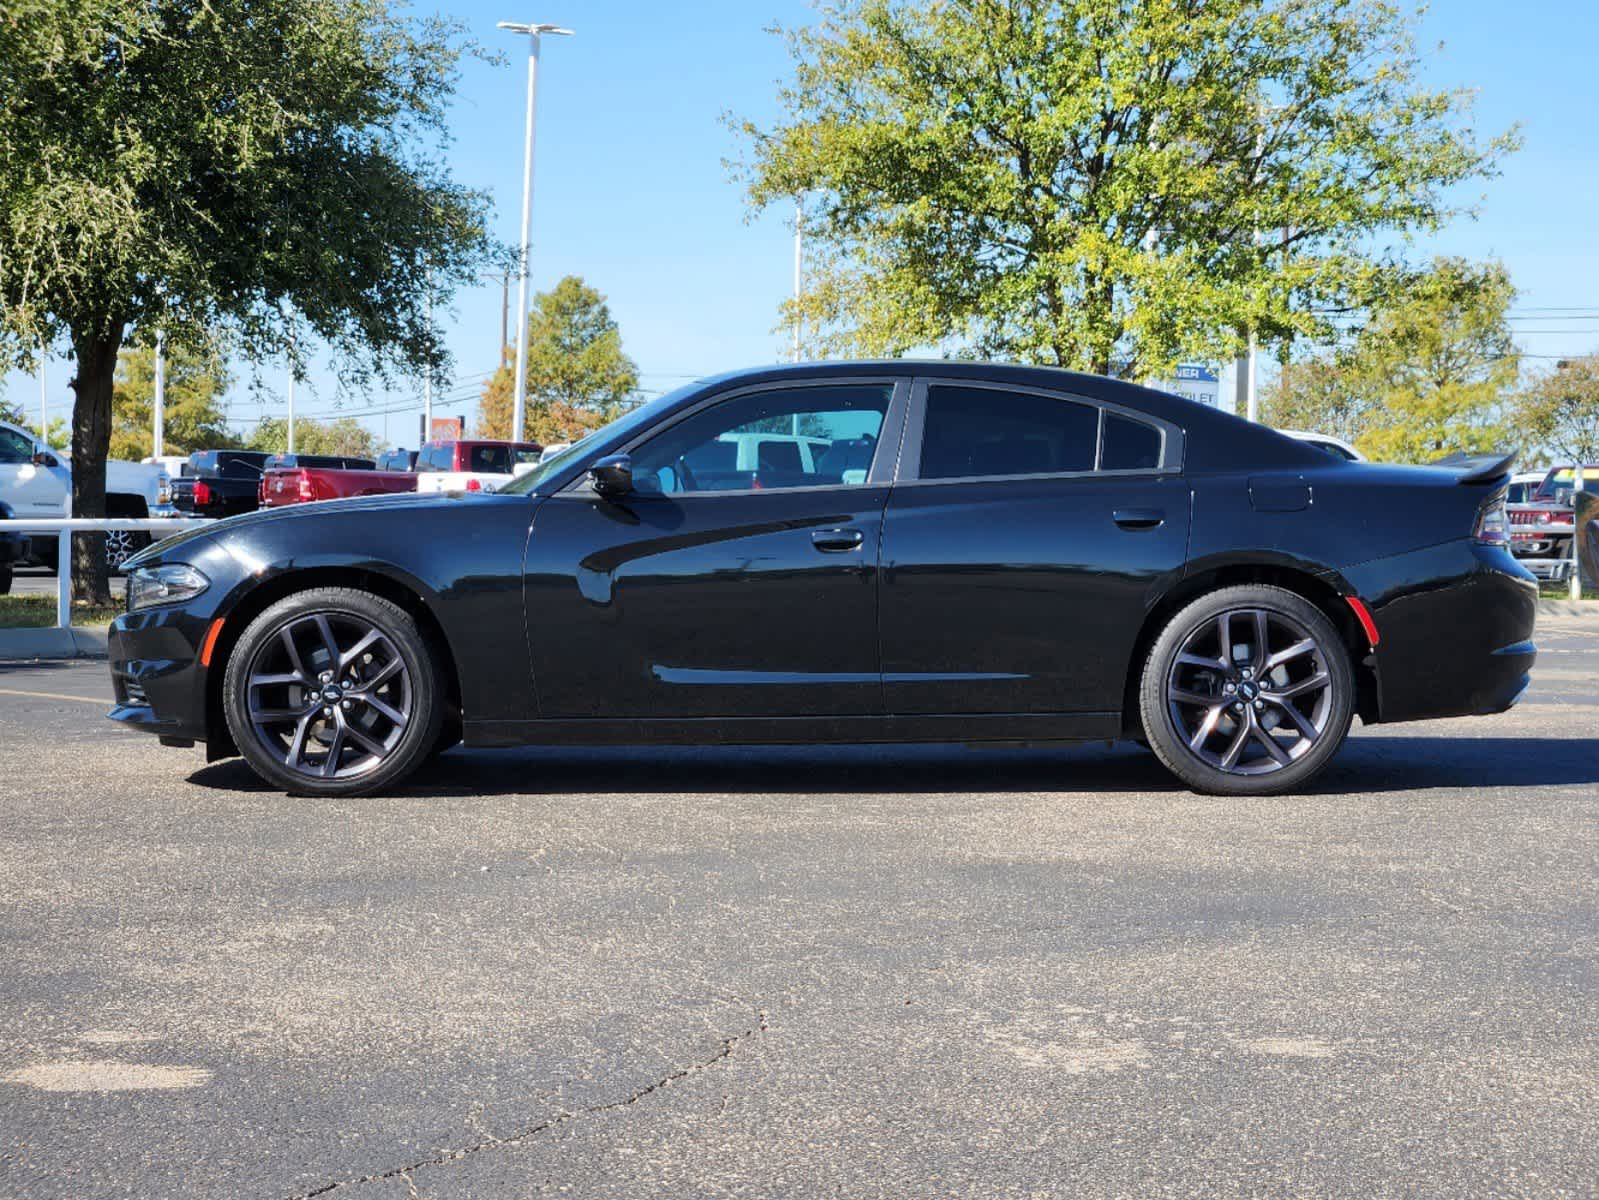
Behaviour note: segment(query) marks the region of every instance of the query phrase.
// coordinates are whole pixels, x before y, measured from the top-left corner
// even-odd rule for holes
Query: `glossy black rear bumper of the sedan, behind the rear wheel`
[[[1367,602],[1382,722],[1505,712],[1538,656],[1538,584],[1500,547],[1471,539],[1345,571]]]

